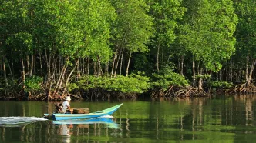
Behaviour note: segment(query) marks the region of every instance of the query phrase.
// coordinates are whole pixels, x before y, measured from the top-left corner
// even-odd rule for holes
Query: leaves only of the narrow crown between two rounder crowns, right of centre
[[[184,16],[185,8],[179,0],[155,1],[149,0],[150,15],[154,18],[154,43],[161,46],[169,46],[176,38],[174,33],[177,27],[177,20]]]

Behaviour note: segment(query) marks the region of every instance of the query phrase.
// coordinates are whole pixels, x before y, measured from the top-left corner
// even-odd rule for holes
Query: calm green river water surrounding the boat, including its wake
[[[49,121],[53,102],[0,101],[0,142],[254,142],[256,95],[150,101],[72,101],[114,118]]]

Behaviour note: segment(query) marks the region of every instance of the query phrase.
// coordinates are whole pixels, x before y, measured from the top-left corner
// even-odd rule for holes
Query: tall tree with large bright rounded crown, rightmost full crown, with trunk
[[[221,62],[230,58],[235,50],[233,34],[237,15],[233,2],[197,0],[184,1],[184,5],[187,12],[180,28],[180,43],[194,55],[193,62],[197,61],[198,75],[203,75],[204,67],[210,71],[219,71]],[[201,77],[198,86],[202,88]]]

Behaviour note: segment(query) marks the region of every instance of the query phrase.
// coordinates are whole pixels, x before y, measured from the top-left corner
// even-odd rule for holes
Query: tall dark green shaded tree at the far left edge
[[[2,54],[4,62],[19,61],[22,65],[22,85],[25,89],[25,75],[32,76],[35,47],[32,39],[32,1],[2,2]],[[7,55],[8,54],[8,55]],[[5,64],[5,63],[4,63]],[[9,73],[12,73],[10,65]],[[20,67],[20,66],[19,66]],[[6,76],[5,76],[5,81]]]

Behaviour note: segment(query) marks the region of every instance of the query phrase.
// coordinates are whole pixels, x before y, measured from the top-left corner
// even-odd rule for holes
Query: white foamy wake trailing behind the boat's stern
[[[35,121],[45,121],[45,118],[39,117],[0,117],[0,126],[13,127],[29,124]]]

